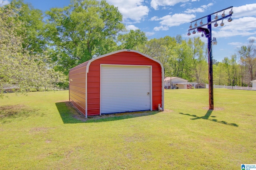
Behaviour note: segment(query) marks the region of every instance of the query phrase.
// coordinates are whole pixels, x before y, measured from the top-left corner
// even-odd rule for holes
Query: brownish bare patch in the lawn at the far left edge
[[[36,113],[36,109],[31,109],[24,105],[5,105],[0,106],[0,119],[7,117],[28,117],[32,113]]]

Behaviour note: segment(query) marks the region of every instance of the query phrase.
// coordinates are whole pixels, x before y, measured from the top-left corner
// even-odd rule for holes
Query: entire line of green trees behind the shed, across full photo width
[[[159,60],[165,76],[208,82],[206,45],[199,37],[150,39],[126,30],[122,14],[105,0],[72,0],[43,13],[23,0],[0,7],[0,91],[18,87],[68,87],[70,68],[119,49],[133,49]],[[254,40],[214,63],[214,83],[247,86],[256,79]]]

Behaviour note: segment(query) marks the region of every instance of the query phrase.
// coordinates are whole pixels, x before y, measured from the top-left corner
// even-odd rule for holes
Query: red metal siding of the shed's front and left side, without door
[[[90,62],[90,65],[87,65]],[[94,61],[87,61],[70,70],[70,102],[86,115],[100,115],[100,64],[128,64],[152,66],[152,109],[162,106],[162,67],[161,64],[140,53],[122,51]],[[86,82],[86,68],[87,82]],[[87,87],[86,87],[87,86]],[[87,88],[87,96],[86,96]],[[87,98],[87,99],[86,99]],[[86,104],[87,102],[87,104]],[[87,106],[87,108],[86,108]]]

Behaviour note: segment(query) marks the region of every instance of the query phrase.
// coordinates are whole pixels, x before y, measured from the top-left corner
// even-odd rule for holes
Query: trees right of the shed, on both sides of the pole
[[[213,82],[216,85],[250,86],[256,79],[255,40],[241,46],[234,55],[222,61],[213,60]],[[208,51],[199,37],[182,40],[166,36],[151,39],[134,49],[161,61],[165,76],[175,76],[189,82],[208,83]]]

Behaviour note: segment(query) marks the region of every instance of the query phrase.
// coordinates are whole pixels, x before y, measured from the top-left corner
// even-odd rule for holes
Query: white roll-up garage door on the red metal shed
[[[100,111],[151,109],[151,67],[101,65]]]

